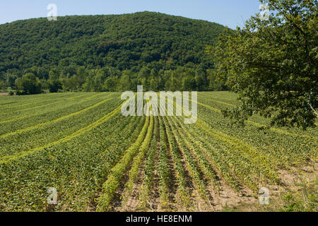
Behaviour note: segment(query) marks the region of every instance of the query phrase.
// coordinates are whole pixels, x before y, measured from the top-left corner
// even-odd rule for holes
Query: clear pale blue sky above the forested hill
[[[258,0],[1,0],[0,24],[47,16],[47,5],[57,5],[57,16],[122,14],[155,11],[208,20],[230,28],[259,11]]]

